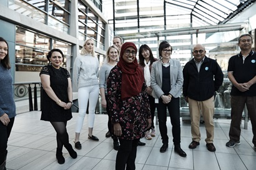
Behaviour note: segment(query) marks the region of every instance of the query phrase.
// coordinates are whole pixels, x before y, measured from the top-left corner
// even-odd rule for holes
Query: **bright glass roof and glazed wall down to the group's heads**
[[[102,0],[115,35],[137,47],[149,45],[154,57],[162,40],[172,44],[172,58],[184,65],[194,44],[204,44],[207,55],[222,62],[239,52],[237,37],[248,24],[231,24],[234,16],[256,0]],[[113,6],[114,4],[114,6]],[[104,14],[106,12],[104,11]],[[229,24],[228,24],[229,23]]]

